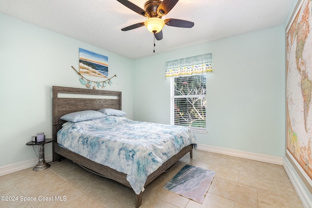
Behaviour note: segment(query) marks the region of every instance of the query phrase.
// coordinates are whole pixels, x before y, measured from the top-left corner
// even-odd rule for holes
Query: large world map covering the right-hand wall
[[[312,2],[302,0],[286,28],[286,147],[312,179]]]

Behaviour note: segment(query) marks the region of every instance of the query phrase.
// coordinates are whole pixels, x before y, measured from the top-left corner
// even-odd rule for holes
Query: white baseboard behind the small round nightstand
[[[52,154],[44,156],[44,159],[46,162],[51,162],[52,161]],[[0,176],[7,175],[7,174],[10,174],[13,172],[20,171],[20,170],[24,170],[27,168],[35,167],[37,165],[37,163],[38,163],[38,158],[23,161],[20,163],[7,165],[7,166],[2,166],[2,167],[0,167]]]

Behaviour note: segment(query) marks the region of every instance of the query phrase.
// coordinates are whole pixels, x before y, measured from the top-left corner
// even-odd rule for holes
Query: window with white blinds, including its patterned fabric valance
[[[206,131],[206,74],[213,72],[212,54],[166,61],[171,79],[171,125]]]

